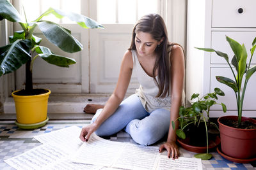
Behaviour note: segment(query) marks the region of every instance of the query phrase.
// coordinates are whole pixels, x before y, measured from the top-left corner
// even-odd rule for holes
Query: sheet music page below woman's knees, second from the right
[[[156,169],[160,157],[157,146],[127,143],[113,167],[126,169]]]

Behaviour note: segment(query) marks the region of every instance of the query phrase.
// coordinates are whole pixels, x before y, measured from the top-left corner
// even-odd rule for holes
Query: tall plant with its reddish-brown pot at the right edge
[[[236,94],[237,116],[226,116],[218,118],[220,127],[221,150],[224,157],[234,162],[250,162],[256,160],[256,120],[252,118],[242,117],[243,101],[246,92],[246,85],[256,66],[251,66],[253,53],[256,48],[256,38],[252,42],[250,49],[250,61],[247,64],[247,52],[243,45],[239,44],[232,38],[226,36],[226,39],[234,52],[231,64],[228,60],[227,53],[223,53],[212,48],[198,48],[205,52],[216,52],[217,55],[223,57],[233,74],[233,80],[223,76],[216,76],[216,80],[220,81],[232,88]],[[236,71],[236,74],[235,74]]]

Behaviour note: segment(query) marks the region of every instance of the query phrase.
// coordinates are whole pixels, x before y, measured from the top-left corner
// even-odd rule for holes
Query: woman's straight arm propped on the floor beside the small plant
[[[185,74],[185,64],[184,64],[184,53],[179,45],[174,45],[172,47],[172,53],[170,57],[171,62],[171,97],[172,106],[170,112],[170,127],[168,132],[168,138],[166,143],[164,143],[159,148],[159,152],[166,148],[168,152],[168,157],[172,158],[179,157],[179,149],[176,145],[177,136],[175,131],[179,126],[179,122],[175,121],[179,117],[179,107],[182,103],[182,92]],[[175,121],[175,129],[172,128],[172,121]]]

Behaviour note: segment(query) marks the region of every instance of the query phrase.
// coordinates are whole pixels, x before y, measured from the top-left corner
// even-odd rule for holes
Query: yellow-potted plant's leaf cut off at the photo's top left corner
[[[11,22],[22,22],[22,17],[19,12],[14,8],[14,6],[6,0],[0,1],[0,20],[3,19],[10,20]]]

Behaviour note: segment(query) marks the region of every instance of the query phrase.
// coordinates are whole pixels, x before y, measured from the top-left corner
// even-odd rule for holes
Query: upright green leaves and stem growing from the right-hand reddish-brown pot
[[[226,60],[228,66],[230,67],[234,80],[227,77],[223,77],[223,76],[216,76],[216,80],[220,81],[220,83],[223,83],[234,90],[236,94],[237,111],[238,111],[238,127],[240,127],[246,86],[252,74],[255,73],[256,71],[256,66],[250,67],[253,53],[256,48],[256,38],[253,40],[252,48],[250,49],[251,57],[250,57],[249,64],[246,63],[247,52],[244,44],[241,45],[234,39],[229,38],[228,36],[226,36],[226,39],[230,47],[232,48],[232,51],[234,52],[234,57],[231,60],[231,64],[234,66],[234,68],[231,66],[228,60],[227,53],[223,53],[223,52],[214,50],[212,48],[197,48],[197,49],[204,50],[205,52],[216,52],[217,55],[219,55],[220,57],[223,57]],[[237,74],[235,74],[234,70],[236,70]],[[243,82],[244,76],[245,76],[245,80]]]

